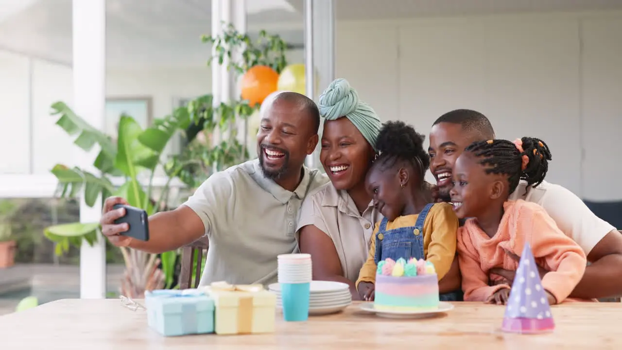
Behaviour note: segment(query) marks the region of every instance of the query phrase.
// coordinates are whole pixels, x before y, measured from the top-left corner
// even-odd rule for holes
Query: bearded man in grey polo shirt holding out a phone
[[[258,159],[213,174],[182,206],[149,217],[147,242],[114,224],[124,215],[106,199],[102,232],[117,246],[150,253],[174,250],[207,236],[201,285],[212,281],[234,284],[276,281],[277,255],[297,251],[294,232],[302,200],[328,179],[304,166],[318,143],[320,113],[309,98],[294,92],[272,95],[261,110],[257,135]]]

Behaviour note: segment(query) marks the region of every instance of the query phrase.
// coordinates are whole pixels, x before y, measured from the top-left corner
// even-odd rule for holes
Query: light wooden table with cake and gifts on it
[[[568,303],[552,307],[557,328],[540,335],[499,331],[504,307],[454,303],[431,319],[386,319],[358,303],[343,313],[287,323],[276,333],[164,338],[147,327],[146,311],[121,301],[67,299],[0,316],[0,349],[622,349],[622,304]]]

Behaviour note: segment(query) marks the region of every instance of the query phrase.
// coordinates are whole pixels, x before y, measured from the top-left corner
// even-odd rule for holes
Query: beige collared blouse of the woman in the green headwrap
[[[307,195],[302,202],[296,240],[299,239],[302,227],[315,225],[333,240],[343,268],[343,276],[356,282],[358,273],[367,260],[374,224],[382,218],[371,202],[363,215],[359,214],[348,192],[337,191],[328,182]]]

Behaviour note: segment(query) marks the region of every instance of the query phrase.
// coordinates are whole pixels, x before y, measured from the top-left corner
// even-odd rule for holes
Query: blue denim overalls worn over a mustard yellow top
[[[378,227],[378,234],[376,234],[376,253],[374,254],[376,265],[386,258],[395,261],[399,258],[404,258],[404,260],[409,258],[425,259],[424,222],[432,206],[434,203],[427,204],[424,210],[421,210],[414,226],[387,230],[388,220],[386,217],[383,218]],[[462,290],[452,291],[441,294],[439,298],[441,301],[462,301],[463,293]]]

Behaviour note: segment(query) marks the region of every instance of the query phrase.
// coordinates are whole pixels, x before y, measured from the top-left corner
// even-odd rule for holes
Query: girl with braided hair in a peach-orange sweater
[[[518,268],[516,255],[529,242],[537,265],[549,271],[542,287],[549,303],[561,303],[585,272],[582,248],[567,237],[545,210],[508,198],[522,179],[536,187],[551,160],[549,147],[537,138],[478,141],[453,166],[453,210],[468,218],[458,229],[458,260],[465,301],[504,304],[510,287],[492,268]]]

